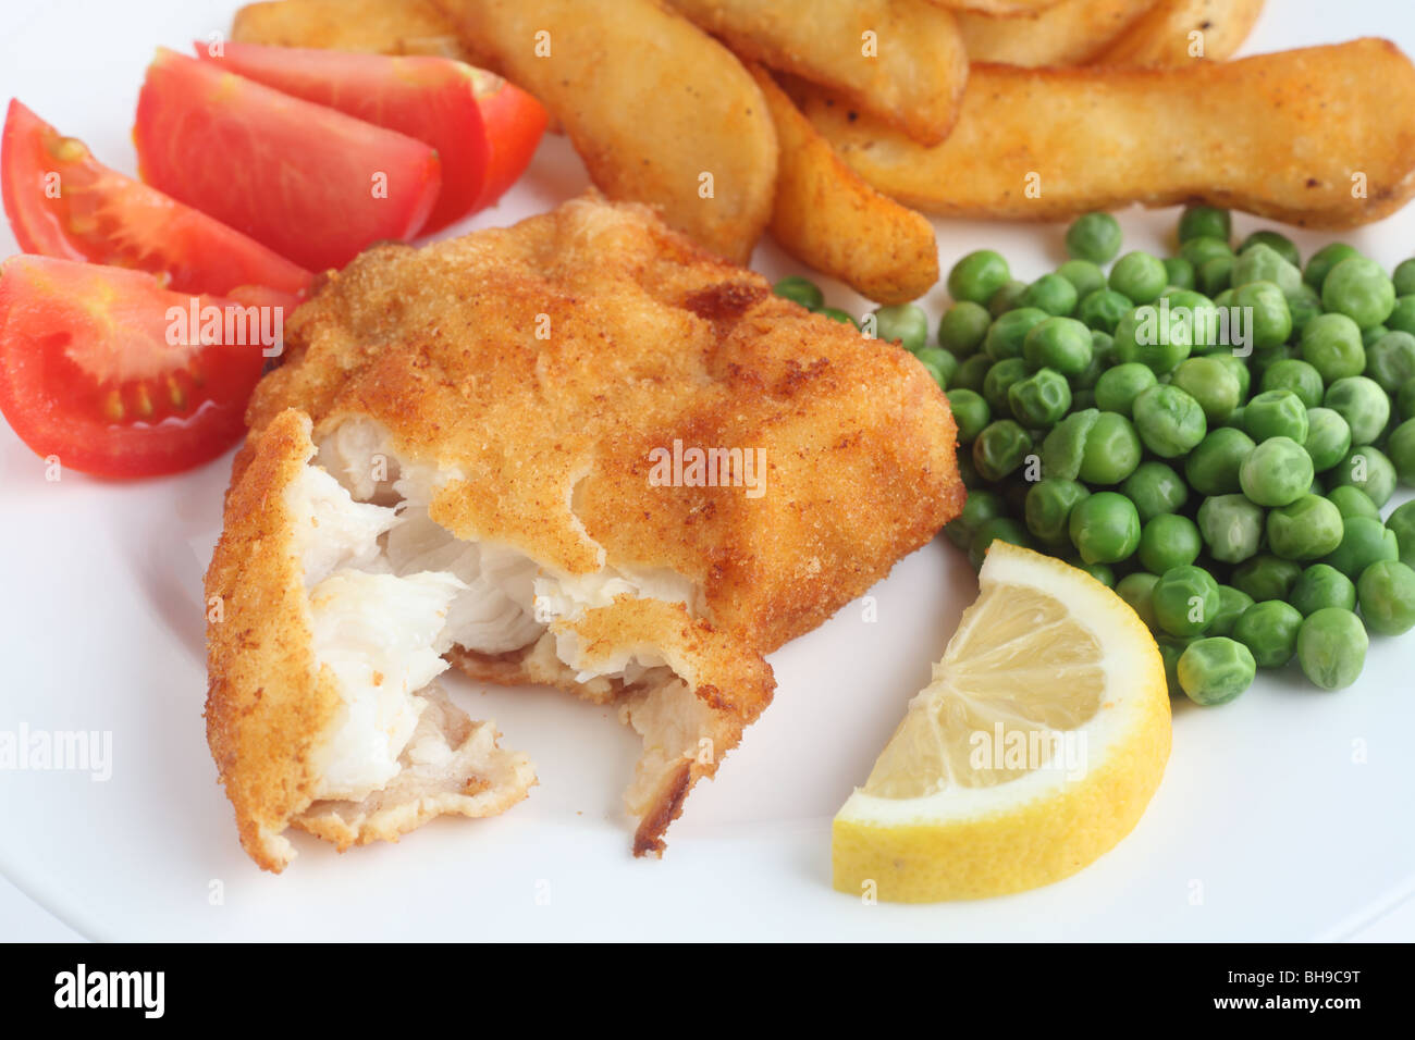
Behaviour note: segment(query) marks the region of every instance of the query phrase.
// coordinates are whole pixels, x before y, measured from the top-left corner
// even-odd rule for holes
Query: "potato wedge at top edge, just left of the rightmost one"
[[[1034,14],[958,13],[972,61],[1043,68],[1084,65],[1162,0],[1061,0]]]

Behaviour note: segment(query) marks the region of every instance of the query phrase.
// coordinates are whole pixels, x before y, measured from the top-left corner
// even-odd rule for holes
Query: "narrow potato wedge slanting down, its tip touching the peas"
[[[908,303],[938,282],[934,225],[886,198],[848,167],[760,65],[777,125],[777,200],[771,236],[802,263],[876,303]]]

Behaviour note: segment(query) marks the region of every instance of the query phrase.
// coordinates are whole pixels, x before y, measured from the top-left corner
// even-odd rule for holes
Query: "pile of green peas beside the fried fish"
[[[1234,248],[1213,207],[1170,258],[1115,259],[1104,212],[1065,246],[1032,283],[964,256],[934,344],[916,304],[865,323],[948,396],[969,491],[945,535],[975,567],[1002,539],[1112,586],[1200,705],[1293,658],[1351,685],[1368,632],[1415,627],[1415,501],[1381,516],[1415,485],[1415,258],[1334,242],[1303,266],[1275,231]],[[805,279],[777,291],[852,321]]]

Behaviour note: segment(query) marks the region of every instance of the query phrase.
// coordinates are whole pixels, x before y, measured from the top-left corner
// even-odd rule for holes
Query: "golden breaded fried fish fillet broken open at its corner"
[[[290,627],[290,552],[266,545],[282,525],[272,468],[286,485],[299,467],[318,474],[347,509],[391,511],[355,553],[368,573],[345,577],[446,597],[441,627],[424,617],[422,641],[400,645],[620,706],[644,737],[627,795],[638,855],[662,850],[688,791],[768,703],[761,655],[962,505],[952,417],[911,355],[774,296],[634,204],[587,197],[508,229],[371,249],[293,316],[286,347],[252,399],[208,577],[228,603],[209,634],[208,719],[243,838],[282,824],[386,836],[376,812],[328,809],[364,821],[334,833],[301,808],[317,765],[310,737],[289,734],[328,726],[337,702]],[[266,447],[306,417],[310,461],[303,441]],[[294,606],[239,567],[258,548],[286,562]],[[405,685],[420,691],[426,671]],[[383,774],[400,750],[385,743]],[[286,799],[242,794],[256,788]],[[492,790],[508,802],[524,782]]]

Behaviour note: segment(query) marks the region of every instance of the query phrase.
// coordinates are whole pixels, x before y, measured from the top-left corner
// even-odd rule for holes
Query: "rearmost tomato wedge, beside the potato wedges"
[[[432,144],[443,185],[423,233],[501,198],[531,163],[549,119],[525,91],[450,58],[241,42],[194,47],[198,58],[282,93]]]

